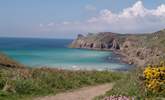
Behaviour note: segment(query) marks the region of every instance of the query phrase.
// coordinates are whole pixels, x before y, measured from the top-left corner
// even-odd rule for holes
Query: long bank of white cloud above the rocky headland
[[[86,8],[94,9],[90,6]],[[142,1],[137,1],[132,7],[125,8],[119,13],[104,9],[98,16],[85,21],[65,21],[54,24],[51,30],[63,33],[98,31],[138,33],[157,31],[162,28],[165,28],[165,5],[162,4],[156,9],[147,9]]]

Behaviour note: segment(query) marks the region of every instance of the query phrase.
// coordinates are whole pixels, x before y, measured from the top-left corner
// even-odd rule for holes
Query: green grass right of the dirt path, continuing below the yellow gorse
[[[115,83],[112,90],[94,100],[102,100],[104,97],[112,95],[134,97],[135,100],[162,100],[160,98],[165,98],[165,93],[153,93],[145,88],[144,80],[141,77],[142,72],[138,68],[125,73],[123,78]]]

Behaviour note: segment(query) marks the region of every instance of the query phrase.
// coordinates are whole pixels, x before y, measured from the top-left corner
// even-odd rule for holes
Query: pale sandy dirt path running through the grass
[[[103,84],[81,88],[71,92],[59,93],[55,96],[39,97],[35,100],[92,100],[112,88],[113,84]]]

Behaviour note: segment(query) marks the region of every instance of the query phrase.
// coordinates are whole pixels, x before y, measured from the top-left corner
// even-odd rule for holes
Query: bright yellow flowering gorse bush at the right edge
[[[149,91],[165,93],[165,64],[148,65],[144,70],[145,84]]]

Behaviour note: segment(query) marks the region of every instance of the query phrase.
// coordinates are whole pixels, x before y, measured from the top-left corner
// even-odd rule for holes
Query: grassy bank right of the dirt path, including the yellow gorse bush
[[[137,68],[118,80],[112,90],[96,100],[111,96],[133,97],[135,100],[162,100],[165,98],[165,64]]]

